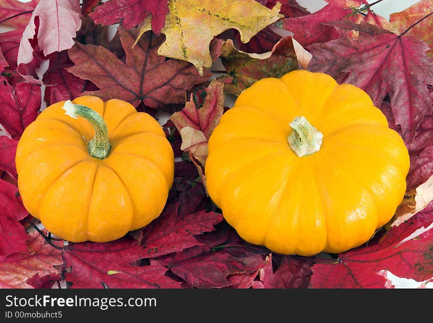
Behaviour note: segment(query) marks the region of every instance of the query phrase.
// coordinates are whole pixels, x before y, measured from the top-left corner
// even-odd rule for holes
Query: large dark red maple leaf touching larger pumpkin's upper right
[[[341,38],[309,46],[308,69],[332,75],[365,90],[377,107],[388,93],[396,124],[406,143],[433,110],[427,88],[433,84],[433,62],[427,45],[367,23],[349,20],[332,24]]]

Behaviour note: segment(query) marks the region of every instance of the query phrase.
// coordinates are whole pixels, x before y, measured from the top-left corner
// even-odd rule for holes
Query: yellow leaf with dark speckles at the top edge
[[[161,30],[166,40],[158,54],[188,61],[200,72],[211,67],[209,44],[214,36],[234,28],[248,42],[257,32],[282,18],[281,4],[273,9],[255,0],[170,0]]]

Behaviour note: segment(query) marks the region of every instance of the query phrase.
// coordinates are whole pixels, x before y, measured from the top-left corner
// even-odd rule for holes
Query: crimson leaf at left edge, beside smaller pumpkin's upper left
[[[36,119],[41,106],[40,86],[21,82],[12,87],[0,85],[0,124],[14,139],[19,139],[24,129]]]

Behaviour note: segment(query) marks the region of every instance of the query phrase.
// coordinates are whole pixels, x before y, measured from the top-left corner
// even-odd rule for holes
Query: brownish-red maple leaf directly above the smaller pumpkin
[[[211,75],[198,74],[194,65],[175,59],[165,60],[157,54],[163,36],[155,36],[151,31],[140,37],[137,29],[118,29],[126,54],[126,61],[118,59],[101,46],[76,43],[69,51],[74,66],[68,70],[74,75],[92,81],[100,90],[85,92],[101,97],[122,98],[135,107],[140,102],[150,108],[185,102],[185,91],[195,84],[202,83]]]

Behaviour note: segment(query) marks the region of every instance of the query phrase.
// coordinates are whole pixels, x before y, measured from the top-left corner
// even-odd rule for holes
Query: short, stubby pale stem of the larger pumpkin
[[[289,135],[287,141],[296,155],[299,157],[308,156],[320,150],[323,134],[311,126],[305,117],[296,117],[289,123],[289,126],[293,129],[293,132]]]

